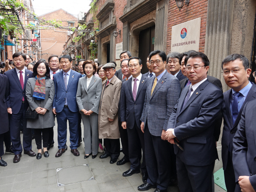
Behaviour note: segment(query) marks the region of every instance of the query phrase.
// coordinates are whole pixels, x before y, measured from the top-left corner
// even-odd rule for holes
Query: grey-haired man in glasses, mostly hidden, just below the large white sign
[[[167,55],[169,71],[171,75],[174,75],[179,81],[186,78],[181,72],[181,63],[179,62],[180,57],[181,54],[178,52],[172,52]]]

